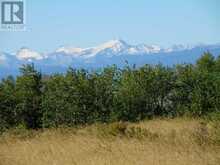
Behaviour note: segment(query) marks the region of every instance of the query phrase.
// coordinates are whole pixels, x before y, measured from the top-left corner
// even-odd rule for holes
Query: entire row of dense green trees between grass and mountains
[[[195,65],[111,66],[43,76],[24,65],[0,82],[0,130],[204,116],[220,111],[220,58],[205,53]]]

